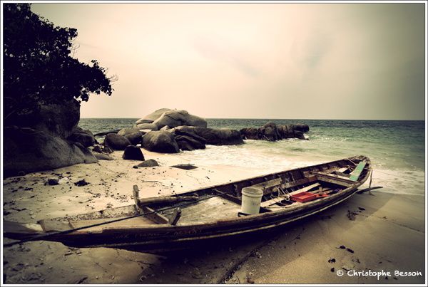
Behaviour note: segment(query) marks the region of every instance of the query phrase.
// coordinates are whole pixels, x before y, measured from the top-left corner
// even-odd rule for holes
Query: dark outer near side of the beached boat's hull
[[[331,200],[319,202],[310,208],[295,210],[293,212],[275,212],[267,214],[269,216],[252,216],[242,221],[225,221],[215,224],[195,224],[193,226],[168,226],[165,228],[153,227],[153,229],[126,229],[103,232],[102,234],[76,234],[73,238],[64,241],[58,238],[67,246],[73,247],[111,247],[127,249],[148,253],[160,253],[187,249],[201,243],[208,244],[208,241],[219,242],[232,239],[241,239],[249,234],[263,233],[270,229],[285,226],[294,221],[304,219],[319,212],[333,207],[352,197],[357,192],[357,188],[350,189],[346,194],[340,194],[333,202]],[[261,214],[263,215],[263,214]],[[243,218],[246,219],[246,218]],[[51,240],[55,240],[52,238]]]

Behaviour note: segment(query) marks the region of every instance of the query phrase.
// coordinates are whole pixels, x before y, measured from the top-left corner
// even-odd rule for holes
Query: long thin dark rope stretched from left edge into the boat
[[[71,233],[73,231],[78,231],[78,230],[87,229],[87,228],[91,228],[91,227],[101,226],[101,225],[104,225],[104,224],[111,224],[111,223],[118,222],[118,221],[123,221],[123,220],[126,220],[126,219],[133,219],[133,218],[136,218],[136,217],[139,217],[139,216],[146,216],[146,215],[149,215],[149,214],[155,214],[157,212],[164,212],[166,210],[175,209],[177,207],[185,207],[185,206],[188,206],[190,204],[194,204],[195,202],[202,202],[203,200],[206,200],[206,199],[210,199],[210,198],[213,198],[213,197],[219,197],[220,195],[223,195],[223,194],[227,194],[227,192],[220,192],[218,194],[214,194],[214,195],[209,196],[209,197],[204,197],[204,198],[201,198],[201,199],[196,199],[193,202],[186,202],[185,204],[181,204],[181,205],[178,205],[178,206],[175,206],[175,207],[165,207],[163,209],[154,210],[153,212],[146,212],[146,213],[143,213],[143,214],[135,214],[135,215],[131,215],[131,216],[120,218],[120,219],[113,219],[111,221],[100,222],[100,223],[96,223],[96,224],[91,224],[91,225],[87,225],[87,226],[76,227],[76,228],[73,228],[73,229],[67,229],[67,230],[63,230],[63,231],[54,231],[54,232],[51,232],[49,234],[39,234],[39,235],[32,236],[32,237],[27,238],[27,239],[22,239],[20,241],[14,241],[14,242],[10,242],[8,244],[3,244],[3,247],[10,247],[10,246],[14,246],[16,244],[23,244],[25,242],[34,241],[34,240],[48,239],[51,236],[68,234],[68,233]]]

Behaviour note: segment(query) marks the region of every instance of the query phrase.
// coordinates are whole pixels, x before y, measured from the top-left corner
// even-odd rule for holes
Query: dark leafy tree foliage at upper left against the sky
[[[30,4],[3,4],[4,121],[14,124],[46,103],[87,101],[91,93],[111,95],[112,78],[96,60],[73,58],[74,28],[56,27],[34,14]]]

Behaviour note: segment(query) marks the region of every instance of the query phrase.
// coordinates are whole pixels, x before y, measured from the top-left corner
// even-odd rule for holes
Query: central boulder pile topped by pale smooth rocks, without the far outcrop
[[[137,120],[133,127],[117,132],[101,132],[105,135],[103,148],[124,150],[125,160],[144,160],[139,150],[143,147],[151,152],[177,153],[180,150],[205,149],[205,145],[239,145],[243,137],[238,130],[213,129],[207,121],[185,110],[163,108]],[[94,155],[104,160],[101,147],[94,147]]]

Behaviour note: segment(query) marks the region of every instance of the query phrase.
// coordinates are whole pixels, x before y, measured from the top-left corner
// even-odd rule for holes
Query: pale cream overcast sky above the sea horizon
[[[424,4],[33,4],[118,75],[82,118],[424,120]]]

